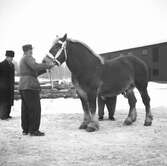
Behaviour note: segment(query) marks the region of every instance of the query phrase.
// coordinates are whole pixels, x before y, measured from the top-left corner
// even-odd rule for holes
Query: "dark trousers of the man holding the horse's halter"
[[[21,126],[24,132],[39,130],[41,120],[41,103],[38,90],[21,90]]]

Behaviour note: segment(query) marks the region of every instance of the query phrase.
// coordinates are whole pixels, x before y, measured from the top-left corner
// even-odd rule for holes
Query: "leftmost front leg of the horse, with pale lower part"
[[[88,106],[88,102],[85,98],[80,97],[81,103],[82,103],[82,107],[84,110],[84,118],[83,118],[83,122],[81,123],[79,129],[86,129],[88,124],[91,121],[91,115],[89,112],[89,106]]]

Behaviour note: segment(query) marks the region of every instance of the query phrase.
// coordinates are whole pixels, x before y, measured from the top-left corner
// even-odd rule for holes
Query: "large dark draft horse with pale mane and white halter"
[[[86,129],[88,132],[99,129],[96,119],[97,96],[105,100],[123,93],[130,106],[124,124],[130,125],[135,122],[137,113],[134,87],[139,90],[145,105],[144,125],[152,124],[150,97],[147,92],[149,71],[142,60],[135,56],[120,56],[104,62],[87,45],[68,39],[67,34],[57,38],[49,54],[54,56],[57,65],[66,62],[72,73],[72,82],[84,110],[80,129]]]

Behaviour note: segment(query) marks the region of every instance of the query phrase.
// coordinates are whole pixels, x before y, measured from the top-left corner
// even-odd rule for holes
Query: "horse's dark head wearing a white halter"
[[[49,50],[49,53],[54,57],[57,65],[61,65],[67,60],[66,44],[67,34],[65,34],[62,38],[57,37],[53,46]]]

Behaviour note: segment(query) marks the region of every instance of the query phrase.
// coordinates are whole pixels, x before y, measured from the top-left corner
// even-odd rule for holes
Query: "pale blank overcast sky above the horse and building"
[[[0,0],[0,59],[31,43],[40,60],[56,35],[96,53],[167,41],[166,0]]]

